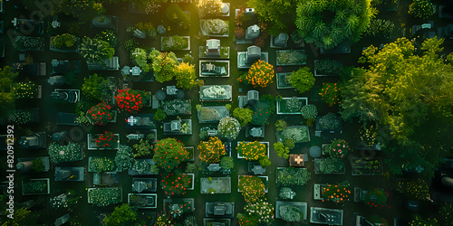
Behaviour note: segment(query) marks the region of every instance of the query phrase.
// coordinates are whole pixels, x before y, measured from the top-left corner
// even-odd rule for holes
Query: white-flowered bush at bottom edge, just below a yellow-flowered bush
[[[247,203],[244,207],[244,215],[265,225],[269,225],[274,221],[274,211],[274,206],[265,199]]]

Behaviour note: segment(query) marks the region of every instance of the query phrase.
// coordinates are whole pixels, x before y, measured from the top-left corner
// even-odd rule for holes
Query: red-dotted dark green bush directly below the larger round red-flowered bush
[[[162,176],[162,174],[160,174]],[[160,186],[164,190],[165,195],[183,195],[186,193],[188,186],[192,183],[192,178],[186,174],[169,173],[163,175],[160,180]]]

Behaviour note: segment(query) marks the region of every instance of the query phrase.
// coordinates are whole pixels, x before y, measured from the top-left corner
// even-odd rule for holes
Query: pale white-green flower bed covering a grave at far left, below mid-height
[[[77,143],[61,146],[57,142],[53,142],[49,146],[49,156],[54,164],[79,161],[82,158],[82,146]]]

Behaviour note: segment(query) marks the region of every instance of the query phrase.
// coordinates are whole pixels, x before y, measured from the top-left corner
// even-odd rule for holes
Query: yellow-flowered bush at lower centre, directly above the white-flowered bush
[[[259,198],[265,196],[265,184],[257,176],[241,176],[238,188],[246,202],[257,202]]]

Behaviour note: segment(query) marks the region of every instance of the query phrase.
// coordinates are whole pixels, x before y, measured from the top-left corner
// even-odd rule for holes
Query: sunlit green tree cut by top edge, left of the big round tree
[[[300,0],[250,0],[248,7],[255,8],[255,14],[260,21],[269,24],[269,33],[278,35],[286,32],[288,27],[294,26],[295,7]]]

